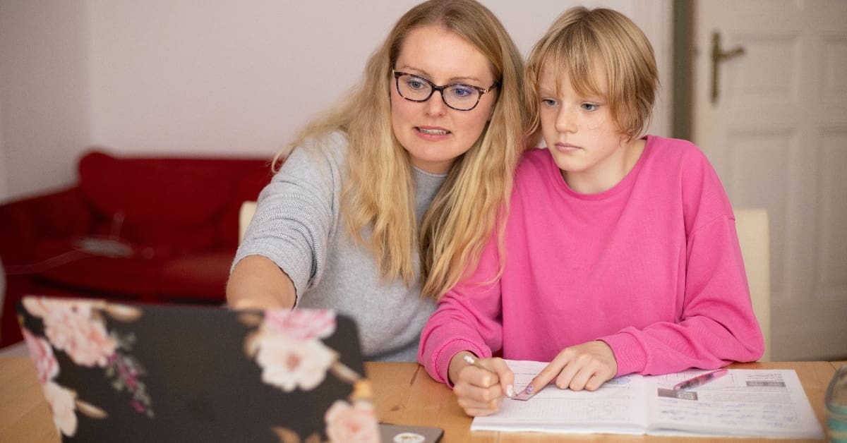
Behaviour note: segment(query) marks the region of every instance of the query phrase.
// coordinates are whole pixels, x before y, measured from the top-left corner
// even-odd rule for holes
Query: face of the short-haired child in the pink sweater
[[[606,71],[597,68],[601,78],[596,84],[605,85]],[[567,71],[556,79],[553,69],[545,68],[539,78],[539,99],[541,133],[568,186],[593,194],[623,180],[644,141],[628,141],[604,95],[581,95],[574,91]]]

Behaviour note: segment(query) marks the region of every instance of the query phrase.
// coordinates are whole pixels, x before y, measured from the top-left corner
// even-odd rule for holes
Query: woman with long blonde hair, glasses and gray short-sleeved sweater
[[[479,3],[409,10],[357,88],[291,143],[236,253],[230,305],[332,308],[357,320],[366,358],[414,360],[435,298],[505,208],[522,76]]]

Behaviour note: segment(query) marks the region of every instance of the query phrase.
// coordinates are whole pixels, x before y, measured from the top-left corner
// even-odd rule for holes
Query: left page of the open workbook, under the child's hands
[[[520,392],[546,363],[507,360]],[[599,390],[575,392],[548,385],[528,401],[503,399],[498,413],[473,418],[471,430],[644,434],[646,385],[634,374]]]

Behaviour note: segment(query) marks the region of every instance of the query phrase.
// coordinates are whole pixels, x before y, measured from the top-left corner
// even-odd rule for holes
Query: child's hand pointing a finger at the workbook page
[[[556,381],[559,389],[597,390],[617,374],[617,360],[605,341],[589,341],[562,349],[529,383],[533,390]]]

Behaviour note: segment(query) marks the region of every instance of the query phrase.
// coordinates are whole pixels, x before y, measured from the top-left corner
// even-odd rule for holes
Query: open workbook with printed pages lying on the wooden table
[[[518,392],[545,366],[507,363]],[[625,375],[593,392],[550,385],[529,401],[505,399],[499,413],[473,418],[471,429],[823,439],[793,369],[730,369],[698,388],[673,390],[680,381],[705,372]]]

